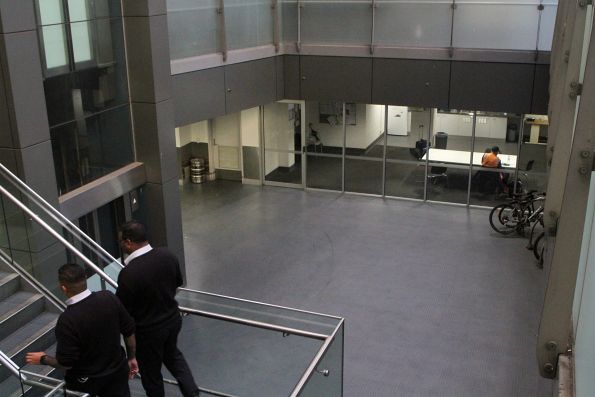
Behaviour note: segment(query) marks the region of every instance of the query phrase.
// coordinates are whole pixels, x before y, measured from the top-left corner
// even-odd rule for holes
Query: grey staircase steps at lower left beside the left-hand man
[[[0,351],[25,371],[62,377],[52,367],[25,364],[27,352],[54,353],[54,327],[59,314],[58,307],[0,263]],[[45,393],[47,390],[25,386],[25,396]],[[19,379],[4,366],[0,366],[0,396],[22,396]]]

